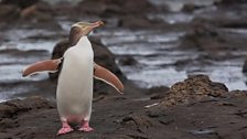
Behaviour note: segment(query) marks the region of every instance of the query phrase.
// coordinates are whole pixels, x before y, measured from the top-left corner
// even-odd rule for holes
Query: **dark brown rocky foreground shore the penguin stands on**
[[[61,126],[56,105],[42,97],[0,104],[2,139],[171,139],[246,136],[246,92],[228,92],[205,75],[192,76],[171,88],[143,90],[126,83],[126,94],[108,92],[94,98],[92,126],[55,137]],[[129,107],[132,106],[132,107]]]

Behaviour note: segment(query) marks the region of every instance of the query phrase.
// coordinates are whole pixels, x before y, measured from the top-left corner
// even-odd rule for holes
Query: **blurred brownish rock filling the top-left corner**
[[[25,26],[35,29],[58,30],[60,24],[54,19],[54,10],[40,0],[4,0],[0,3],[0,24],[3,28]]]

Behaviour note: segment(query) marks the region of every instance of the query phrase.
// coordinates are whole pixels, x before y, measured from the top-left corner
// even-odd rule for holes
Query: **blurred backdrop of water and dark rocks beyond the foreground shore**
[[[53,99],[47,74],[22,78],[21,71],[51,58],[73,23],[97,20],[106,25],[92,38],[140,87],[206,74],[247,89],[246,0],[0,0],[0,101],[34,92]]]

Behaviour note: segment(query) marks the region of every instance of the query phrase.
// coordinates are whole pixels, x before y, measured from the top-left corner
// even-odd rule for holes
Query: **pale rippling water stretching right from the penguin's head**
[[[189,75],[205,74],[214,82],[226,84],[230,90],[247,89],[247,77],[241,72],[244,58],[201,63],[196,58],[204,55],[203,52],[179,49],[184,32],[116,30],[95,35],[100,36],[103,43],[117,55],[117,62],[125,56],[138,62],[135,65],[119,65],[127,77],[141,87],[171,86]],[[189,60],[187,65],[176,66],[176,62],[184,60]]]

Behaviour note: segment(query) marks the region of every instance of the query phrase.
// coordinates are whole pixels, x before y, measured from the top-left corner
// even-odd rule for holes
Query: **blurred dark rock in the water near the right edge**
[[[245,36],[233,34],[230,32],[221,31],[217,26],[195,19],[192,29],[182,38],[181,47],[197,49],[198,51],[207,52],[211,57],[216,57],[224,52],[230,57],[234,51],[246,51],[247,44]]]

